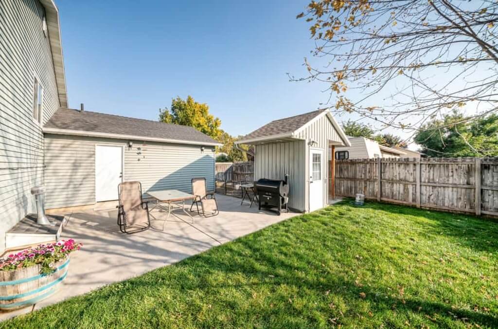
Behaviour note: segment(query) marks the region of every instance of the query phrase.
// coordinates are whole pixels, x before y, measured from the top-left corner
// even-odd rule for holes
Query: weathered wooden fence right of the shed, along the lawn
[[[498,158],[377,158],[335,163],[338,196],[362,192],[378,201],[498,216]]]

